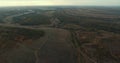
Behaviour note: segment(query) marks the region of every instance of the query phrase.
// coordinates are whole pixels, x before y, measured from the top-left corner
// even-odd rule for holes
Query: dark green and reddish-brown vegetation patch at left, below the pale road
[[[44,36],[44,31],[26,28],[0,27],[0,53],[17,47],[25,40],[36,40]]]

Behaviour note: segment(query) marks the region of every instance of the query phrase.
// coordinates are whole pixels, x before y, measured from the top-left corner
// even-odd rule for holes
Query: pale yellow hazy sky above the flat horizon
[[[0,6],[33,5],[120,6],[120,0],[0,0]]]

